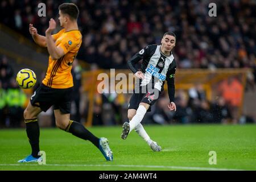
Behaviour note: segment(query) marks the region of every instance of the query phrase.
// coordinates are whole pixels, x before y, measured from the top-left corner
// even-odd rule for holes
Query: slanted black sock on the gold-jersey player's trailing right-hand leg
[[[79,137],[84,140],[89,140],[98,148],[99,138],[95,137],[89,130],[87,130],[81,123],[76,121],[69,121],[67,129],[65,131],[72,133],[76,137]]]

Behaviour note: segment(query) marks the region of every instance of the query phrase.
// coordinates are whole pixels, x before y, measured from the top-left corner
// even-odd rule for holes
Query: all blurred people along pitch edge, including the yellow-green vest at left
[[[85,122],[88,118],[88,94],[82,88],[82,68],[75,59],[72,67],[73,94],[71,118]],[[38,77],[38,82],[32,92],[38,88],[45,73]],[[168,110],[168,94],[160,95],[158,102],[152,106],[152,111],[146,114],[144,123],[255,123],[253,117],[241,113],[243,87],[240,77],[229,77],[217,84],[217,96],[209,101],[203,85],[183,90],[176,89],[175,104],[177,111]],[[40,81],[41,80],[41,81]],[[31,92],[31,93],[32,93]],[[20,127],[23,121],[23,111],[26,108],[31,93],[25,93],[16,84],[13,68],[6,56],[0,59],[0,127]],[[131,94],[95,93],[93,105],[93,125],[121,125],[127,120],[127,107]],[[243,117],[241,117],[241,115]],[[53,108],[39,114],[40,126],[54,127]]]

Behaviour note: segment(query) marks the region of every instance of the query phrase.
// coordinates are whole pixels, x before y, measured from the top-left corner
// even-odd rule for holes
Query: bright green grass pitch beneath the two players
[[[46,165],[17,163],[30,153],[25,129],[0,130],[0,170],[256,170],[256,125],[144,128],[162,146],[161,152],[153,152],[135,131],[122,140],[121,126],[89,128],[97,137],[109,139],[113,162],[89,141],[59,129],[41,129]],[[217,164],[209,164],[209,151],[216,151]]]

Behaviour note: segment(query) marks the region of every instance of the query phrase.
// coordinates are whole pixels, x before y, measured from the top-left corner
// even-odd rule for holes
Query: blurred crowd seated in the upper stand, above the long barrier
[[[46,17],[38,4],[46,3]],[[78,58],[100,68],[127,68],[127,60],[148,44],[159,44],[166,31],[174,31],[179,68],[255,67],[255,1],[1,1],[1,23],[28,34],[33,23],[44,35],[48,20],[58,22],[58,6],[74,2],[80,9],[83,46]],[[215,2],[217,16],[208,15]]]

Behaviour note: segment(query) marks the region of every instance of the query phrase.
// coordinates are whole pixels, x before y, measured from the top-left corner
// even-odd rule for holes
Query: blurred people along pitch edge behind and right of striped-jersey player
[[[170,112],[168,93],[163,92],[143,119],[144,123],[255,123],[253,117],[242,113],[243,86],[240,78],[230,77],[217,84],[216,97],[209,101],[202,84],[188,90],[176,89],[176,112]],[[94,105],[94,125],[115,125],[127,120],[127,105],[131,94],[98,94]]]

